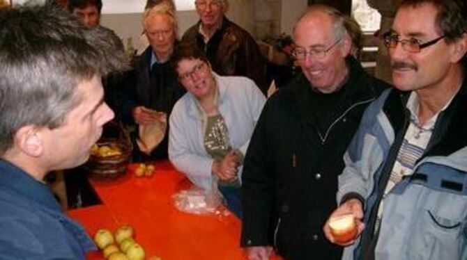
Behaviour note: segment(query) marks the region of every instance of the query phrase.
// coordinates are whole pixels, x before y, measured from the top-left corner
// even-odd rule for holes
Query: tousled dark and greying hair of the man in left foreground
[[[128,66],[109,31],[51,3],[0,11],[0,24],[0,156],[21,127],[61,126],[79,83]]]

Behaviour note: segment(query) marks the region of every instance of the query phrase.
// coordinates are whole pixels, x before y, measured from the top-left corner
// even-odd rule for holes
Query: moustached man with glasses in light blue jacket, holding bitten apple
[[[369,106],[339,177],[358,234],[343,259],[467,259],[467,6],[405,0],[383,40],[395,88]]]

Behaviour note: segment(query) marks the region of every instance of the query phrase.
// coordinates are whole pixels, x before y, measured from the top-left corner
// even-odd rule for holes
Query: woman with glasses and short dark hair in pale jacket
[[[179,45],[171,63],[187,93],[170,116],[169,159],[195,185],[218,188],[241,218],[243,154],[266,99],[250,79],[215,74],[194,44]]]

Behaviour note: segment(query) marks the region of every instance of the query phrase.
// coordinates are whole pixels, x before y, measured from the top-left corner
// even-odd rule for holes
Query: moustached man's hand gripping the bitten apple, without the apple
[[[351,199],[346,201],[344,204],[340,205],[334,212],[332,212],[331,216],[328,218],[328,221],[326,221],[326,224],[323,227],[323,232],[326,238],[328,238],[329,241],[332,243],[335,243],[337,245],[342,245],[342,246],[347,246],[347,245],[352,245],[355,242],[355,239],[352,241],[349,241],[347,243],[339,243],[335,240],[334,236],[332,236],[330,227],[329,227],[329,220],[332,218],[336,218],[342,215],[347,215],[347,214],[352,214],[355,217],[355,222],[357,224],[357,235],[355,236],[355,239],[362,234],[363,229],[365,229],[365,224],[362,222],[363,218],[363,206],[362,202],[358,199]]]

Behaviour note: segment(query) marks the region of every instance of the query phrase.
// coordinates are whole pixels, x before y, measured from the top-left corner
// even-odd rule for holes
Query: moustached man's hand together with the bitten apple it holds
[[[323,232],[329,241],[337,245],[351,245],[362,233],[365,225],[362,202],[351,199],[339,206],[328,218]]]

